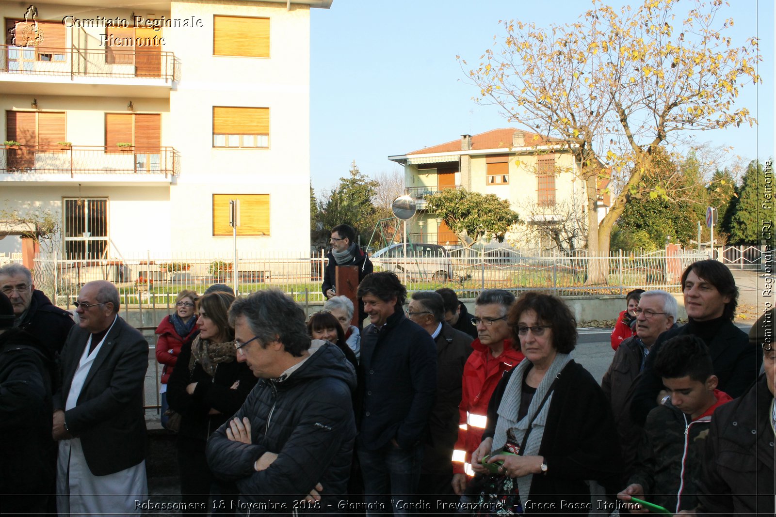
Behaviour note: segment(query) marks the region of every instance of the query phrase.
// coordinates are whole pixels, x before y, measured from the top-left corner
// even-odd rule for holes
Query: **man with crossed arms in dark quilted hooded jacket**
[[[337,508],[346,491],[355,371],[336,345],[310,343],[304,320],[276,289],[237,298],[229,309],[237,360],[258,383],[210,436],[206,454],[213,474],[237,484],[240,512],[290,514],[306,496],[309,508]]]

